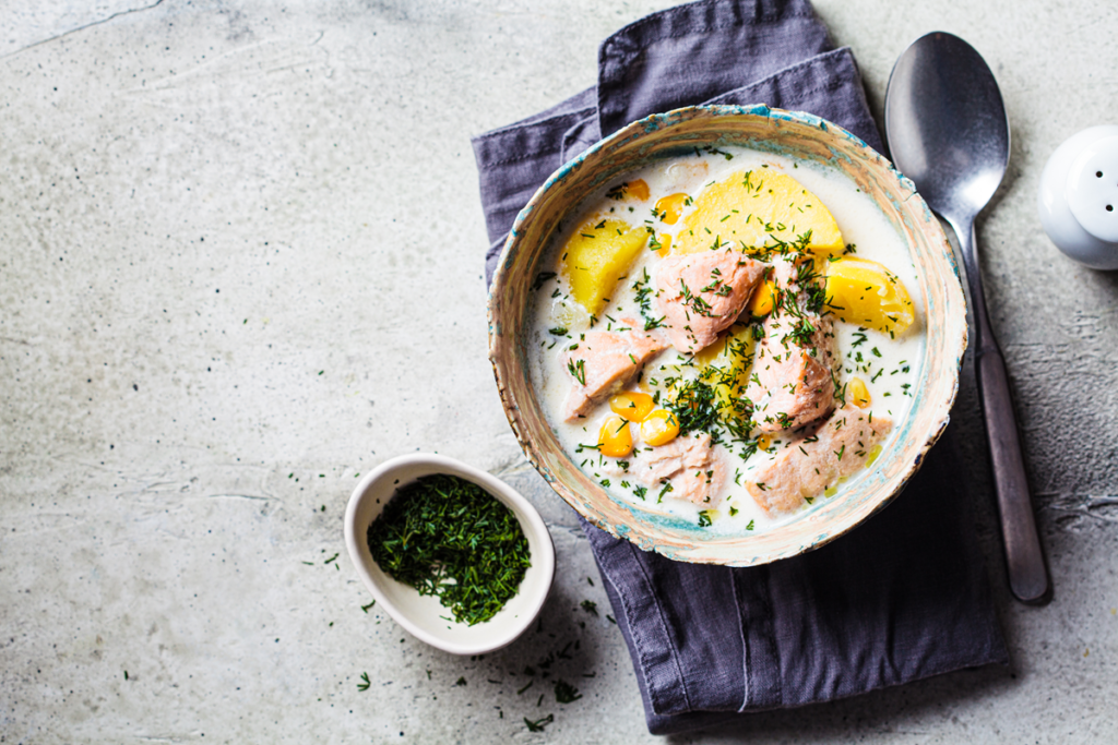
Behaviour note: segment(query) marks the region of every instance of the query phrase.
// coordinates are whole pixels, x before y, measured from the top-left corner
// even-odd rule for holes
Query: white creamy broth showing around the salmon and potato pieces
[[[555,271],[556,277],[544,281],[536,293],[536,304],[530,316],[533,321],[528,338],[530,373],[539,400],[548,422],[575,462],[581,464],[582,470],[598,483],[608,484],[605,488],[615,498],[638,509],[673,515],[691,524],[700,523],[700,509],[703,508],[683,499],[672,498],[670,494],[657,503],[659,488],[655,485],[644,485],[647,486],[648,493],[642,500],[634,496],[633,487],[637,483],[620,471],[617,459],[600,456],[594,449],[584,449],[579,452],[580,445],[597,445],[601,423],[612,413],[608,398],[596,403],[585,419],[574,422],[562,420],[562,404],[571,388],[571,376],[561,355],[567,346],[579,340],[579,334],[589,331],[590,317],[575,299],[568,297],[570,288],[561,270],[561,256],[563,246],[588,220],[613,218],[624,220],[633,227],[654,225],[657,235],[669,233],[674,237],[681,230],[685,230],[683,218],[672,226],[651,221],[652,208],[662,197],[679,192],[698,197],[705,185],[719,182],[738,171],[770,170],[786,173],[822,200],[834,216],[843,240],[855,246],[854,256],[884,265],[900,278],[916,306],[916,321],[896,338],[837,319],[834,323],[836,348],[841,361],[840,383],[845,383],[855,375],[861,378],[866,383],[871,397],[871,404],[866,411],[873,412],[874,416],[889,417],[893,421],[894,431],[883,442],[884,448],[890,447],[896,439],[897,426],[908,412],[911,401],[909,390],[915,385],[923,359],[921,314],[923,298],[916,280],[916,268],[900,236],[873,200],[861,193],[844,174],[833,169],[745,149],[727,147],[723,152],[732,155],[732,160],[728,160],[722,152],[704,153],[699,156],[656,162],[617,179],[617,183],[623,180],[626,182],[644,180],[650,191],[647,199],[637,199],[632,193],[620,201],[609,199],[606,192],[616,185],[610,183],[584,200],[580,211],[563,220],[561,230],[557,231],[540,265],[541,271]],[[684,209],[684,217],[686,212]],[[656,262],[661,260],[652,250],[642,251],[627,276],[618,281],[600,315],[601,321],[594,326],[595,329],[622,326],[623,324],[617,323],[622,316],[641,317],[633,281],[642,277],[645,269],[652,275]],[[617,322],[610,322],[609,318]],[[570,338],[549,333],[549,329],[556,327],[567,328]],[[531,353],[532,348],[536,350],[534,354]],[[667,375],[684,379],[697,376],[698,369],[694,365],[682,364],[685,362],[684,355],[669,346],[646,362],[641,378],[647,384],[650,380]],[[638,389],[637,381],[634,380],[625,390],[642,389]],[[651,391],[655,390],[656,386],[651,386]],[[662,402],[664,398],[661,397]],[[643,443],[636,437],[638,426],[633,424],[632,429],[636,446],[639,448]],[[705,517],[711,519],[707,531],[711,534],[758,533],[787,522],[798,514],[767,517],[741,485],[757,467],[770,461],[781,448],[789,447],[793,439],[798,438],[789,434],[777,436],[768,451],[758,450],[746,460],[742,460],[735,447],[716,446],[723,450],[722,457],[728,465],[728,472],[720,491],[721,504],[717,509],[705,510]],[[854,478],[858,478],[858,474],[850,477],[851,480]],[[622,487],[622,481],[627,481],[629,488]],[[841,497],[844,486],[840,484],[836,489],[828,489],[826,496],[818,495],[813,504]],[[735,515],[730,514],[731,507],[736,510]],[[806,506],[804,509],[811,508]]]

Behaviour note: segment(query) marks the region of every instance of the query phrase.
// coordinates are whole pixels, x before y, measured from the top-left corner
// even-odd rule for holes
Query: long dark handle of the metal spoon
[[[1002,517],[1002,539],[1005,544],[1005,564],[1010,575],[1010,590],[1025,603],[1044,603],[1049,600],[1049,575],[1044,565],[1040,536],[1033,516],[1033,504],[1025,479],[1025,464],[1021,457],[1017,421],[1010,398],[1010,380],[1005,359],[994,338],[986,300],[982,292],[974,222],[969,229],[956,230],[967,267],[970,285],[970,305],[975,322],[975,376],[978,400],[986,420],[986,439],[989,443],[994,469],[994,489],[997,510]],[[967,245],[969,243],[969,245]]]

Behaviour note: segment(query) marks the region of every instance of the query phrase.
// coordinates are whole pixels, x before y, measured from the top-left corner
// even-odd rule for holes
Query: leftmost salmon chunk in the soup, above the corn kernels
[[[587,332],[577,348],[563,353],[562,365],[574,379],[562,408],[566,421],[585,417],[594,402],[620,391],[667,346],[660,336],[638,331],[642,326],[632,318],[622,318],[620,324],[624,331]]]

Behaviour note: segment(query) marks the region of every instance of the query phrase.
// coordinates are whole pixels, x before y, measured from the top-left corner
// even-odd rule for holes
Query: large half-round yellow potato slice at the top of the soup
[[[842,233],[819,198],[798,181],[769,169],[739,171],[694,200],[674,252],[694,254],[729,243],[773,248],[811,231],[807,248],[819,256],[843,252]]]

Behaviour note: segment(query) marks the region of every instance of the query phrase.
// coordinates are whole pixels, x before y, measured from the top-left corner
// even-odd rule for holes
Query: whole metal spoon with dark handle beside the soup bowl
[[[1025,480],[1005,361],[986,315],[975,246],[975,217],[994,195],[1010,160],[1010,123],[985,60],[966,41],[942,31],[913,41],[889,77],[885,137],[897,168],[959,239],[970,285],[978,399],[994,467],[1010,589],[1024,602],[1045,602],[1048,570]]]

